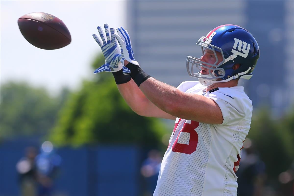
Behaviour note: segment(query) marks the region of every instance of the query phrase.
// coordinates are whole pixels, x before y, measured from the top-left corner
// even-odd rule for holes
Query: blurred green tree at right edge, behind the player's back
[[[265,163],[268,177],[277,181],[277,176],[287,170],[294,158],[294,112],[273,119],[268,109],[259,109],[252,117],[248,138]]]

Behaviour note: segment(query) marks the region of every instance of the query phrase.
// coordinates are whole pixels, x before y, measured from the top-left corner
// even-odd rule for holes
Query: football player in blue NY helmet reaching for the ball
[[[104,27],[105,34],[98,27],[100,36],[93,37],[106,62],[94,73],[112,72],[137,114],[175,120],[153,195],[237,195],[235,171],[252,115],[238,80],[252,76],[259,58],[255,38],[237,25],[214,28],[196,43],[202,56],[186,60],[189,76],[199,81],[175,88],[143,71],[125,29]]]

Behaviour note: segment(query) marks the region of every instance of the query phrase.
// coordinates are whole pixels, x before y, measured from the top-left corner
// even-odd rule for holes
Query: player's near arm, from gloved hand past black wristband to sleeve
[[[212,99],[193,93],[181,92],[175,87],[146,74],[137,61],[133,59],[131,39],[128,32],[122,27],[118,28],[117,32],[118,34],[115,34],[115,37],[120,43],[125,57],[123,63],[131,71],[131,78],[140,87],[140,90],[146,96],[146,100],[171,116],[208,124],[223,123],[222,112]],[[152,104],[148,102],[147,105],[151,106]]]

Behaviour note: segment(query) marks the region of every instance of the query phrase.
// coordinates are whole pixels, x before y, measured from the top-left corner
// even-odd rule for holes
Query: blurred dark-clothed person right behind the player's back
[[[261,196],[265,181],[265,164],[260,160],[249,138],[243,143],[242,162],[236,172],[238,176],[238,196]]]

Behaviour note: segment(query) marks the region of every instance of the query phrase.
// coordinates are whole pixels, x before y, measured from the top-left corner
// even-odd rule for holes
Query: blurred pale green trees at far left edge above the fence
[[[64,90],[62,96],[52,97],[44,88],[34,88],[24,82],[1,85],[0,138],[46,135],[67,93]]]

